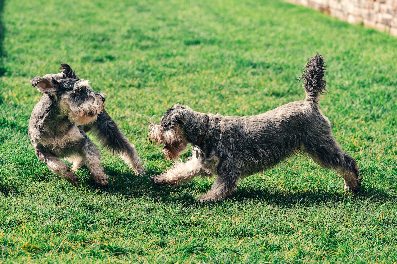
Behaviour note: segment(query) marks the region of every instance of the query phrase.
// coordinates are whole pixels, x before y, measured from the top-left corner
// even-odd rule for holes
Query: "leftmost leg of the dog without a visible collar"
[[[77,186],[79,184],[79,181],[77,180],[77,175],[70,171],[70,168],[65,162],[59,160],[56,156],[48,152],[40,150],[36,150],[36,155],[41,161],[46,163],[52,173],[61,176],[74,186]]]

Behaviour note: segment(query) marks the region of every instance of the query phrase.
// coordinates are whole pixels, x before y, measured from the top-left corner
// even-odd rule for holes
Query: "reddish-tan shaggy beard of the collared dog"
[[[155,142],[157,145],[164,144],[163,154],[167,160],[176,160],[187,148],[188,143],[182,136],[179,126],[165,131],[161,125],[150,122],[149,136],[149,142]]]

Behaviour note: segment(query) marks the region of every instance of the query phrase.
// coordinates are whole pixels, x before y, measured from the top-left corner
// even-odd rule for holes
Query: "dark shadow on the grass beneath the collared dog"
[[[119,169],[106,168],[109,177],[109,185],[101,188],[102,192],[108,192],[113,195],[121,195],[126,199],[147,197],[154,201],[162,203],[178,203],[184,207],[212,207],[223,206],[231,202],[244,203],[266,202],[280,207],[293,208],[297,206],[318,206],[320,204],[340,205],[351,201],[371,200],[383,202],[397,199],[397,196],[389,194],[383,189],[374,188],[372,186],[362,186],[358,194],[351,194],[348,191],[326,190],[319,186],[311,190],[285,190],[277,186],[241,186],[237,188],[229,198],[217,202],[200,202],[200,194],[204,194],[210,190],[211,182],[207,186],[198,186],[193,180],[192,183],[183,183],[177,187],[156,186],[149,179],[150,175],[158,174],[156,170],[148,169],[146,175],[137,176],[132,171],[120,173]],[[86,183],[92,190],[97,190],[92,179],[88,179]]]

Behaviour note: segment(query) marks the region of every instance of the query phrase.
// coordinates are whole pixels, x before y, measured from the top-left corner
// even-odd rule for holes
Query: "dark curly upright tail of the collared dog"
[[[311,57],[306,63],[306,70],[304,74],[299,76],[299,79],[304,79],[302,85],[306,91],[306,101],[313,101],[318,103],[321,94],[327,91],[326,80],[324,80],[324,73],[326,66],[324,65],[324,58],[322,55],[315,55]]]

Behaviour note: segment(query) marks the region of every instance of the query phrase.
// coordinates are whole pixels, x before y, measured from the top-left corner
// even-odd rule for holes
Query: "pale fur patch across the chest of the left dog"
[[[84,135],[81,134],[79,128],[77,126],[73,126],[62,133],[47,133],[45,137],[41,137],[38,141],[40,144],[50,148],[51,150],[62,150],[70,148],[74,144],[80,142],[83,138]]]

